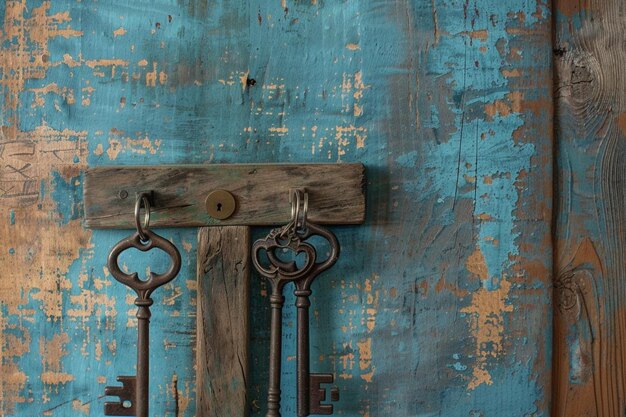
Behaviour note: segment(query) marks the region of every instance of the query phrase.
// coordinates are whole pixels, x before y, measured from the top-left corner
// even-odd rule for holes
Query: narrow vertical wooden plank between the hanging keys
[[[250,228],[198,232],[196,416],[247,415]]]

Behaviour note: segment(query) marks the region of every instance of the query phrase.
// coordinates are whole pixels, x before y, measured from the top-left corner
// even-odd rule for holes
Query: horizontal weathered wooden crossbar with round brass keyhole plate
[[[312,222],[365,220],[362,164],[232,164],[90,169],[85,173],[85,223],[92,228],[133,228],[134,196],[151,190],[154,226],[284,224],[291,219],[293,188],[306,189]],[[235,213],[225,220],[209,216],[205,204],[209,193],[219,189],[236,200]]]

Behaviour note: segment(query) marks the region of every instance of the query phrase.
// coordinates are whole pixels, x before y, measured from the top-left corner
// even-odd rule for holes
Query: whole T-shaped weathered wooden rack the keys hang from
[[[152,227],[199,227],[198,417],[247,415],[250,227],[288,223],[286,197],[294,189],[306,190],[312,223],[361,224],[365,184],[362,164],[116,166],[86,172],[89,228],[141,231],[135,206],[137,196],[146,195]],[[107,392],[117,395],[131,385]],[[126,411],[122,415],[136,415]]]

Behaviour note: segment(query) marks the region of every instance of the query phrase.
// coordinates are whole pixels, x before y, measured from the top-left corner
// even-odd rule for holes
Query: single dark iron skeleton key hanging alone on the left
[[[141,199],[141,200],[140,200]],[[162,285],[173,280],[181,267],[181,258],[178,249],[167,239],[148,230],[150,204],[147,197],[140,196],[135,206],[137,220],[137,232],[118,242],[107,260],[107,266],[111,275],[122,284],[130,287],[137,293],[135,305],[137,308],[137,375],[119,376],[118,382],[122,387],[105,387],[104,395],[119,398],[117,402],[106,402],[104,414],[107,416],[137,416],[148,417],[149,403],[149,364],[150,364],[150,306],[153,301],[150,298],[152,292]],[[145,225],[141,226],[138,220],[138,204],[146,208]],[[124,273],[118,264],[118,258],[122,252],[129,248],[136,248],[142,252],[158,248],[167,253],[172,261],[169,269],[162,274],[150,272],[147,280],[141,280],[136,272]]]

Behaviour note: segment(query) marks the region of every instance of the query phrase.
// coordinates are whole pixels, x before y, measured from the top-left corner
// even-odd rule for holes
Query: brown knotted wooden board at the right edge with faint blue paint
[[[626,410],[626,7],[557,0],[554,417]]]

